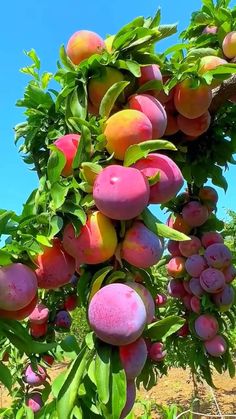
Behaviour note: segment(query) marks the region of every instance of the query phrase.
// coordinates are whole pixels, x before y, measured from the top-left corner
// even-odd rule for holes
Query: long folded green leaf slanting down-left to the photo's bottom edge
[[[93,353],[84,347],[66,372],[65,381],[57,398],[58,419],[70,418],[88,359],[92,355]]]

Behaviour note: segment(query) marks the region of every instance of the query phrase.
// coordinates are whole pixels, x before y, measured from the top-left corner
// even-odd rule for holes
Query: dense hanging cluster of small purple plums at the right
[[[168,242],[171,259],[167,264],[168,275],[172,278],[168,292],[180,299],[187,311],[187,316],[196,313],[193,330],[204,347],[213,357],[223,355],[227,343],[218,334],[219,323],[214,313],[227,311],[234,303],[234,288],[230,283],[236,277],[236,268],[232,265],[232,254],[224,244],[224,239],[217,231],[201,232],[209,213],[215,207],[217,193],[211,187],[200,189],[198,200],[186,202],[180,214],[169,219],[169,224],[177,230],[190,234],[190,239],[183,242]],[[208,296],[211,308],[204,308],[203,297]],[[178,331],[179,336],[189,333],[189,324]]]

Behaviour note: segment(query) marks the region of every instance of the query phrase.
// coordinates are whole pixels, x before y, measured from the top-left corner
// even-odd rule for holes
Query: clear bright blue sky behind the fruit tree
[[[181,31],[188,24],[191,12],[200,5],[200,0],[14,0],[1,4],[0,208],[19,213],[27,196],[37,186],[35,174],[23,164],[14,145],[13,126],[24,119],[23,110],[15,107],[27,82],[27,77],[19,72],[19,68],[28,64],[23,50],[34,48],[43,70],[53,72],[59,46],[66,44],[76,30],[89,29],[105,37],[136,16],[153,15],[160,6],[162,23],[179,22]],[[160,48],[176,40],[177,37],[172,36]],[[226,177],[229,189],[226,196],[220,192],[220,216],[224,216],[224,207],[236,210],[235,166],[230,167]],[[155,212],[160,216],[158,206]]]

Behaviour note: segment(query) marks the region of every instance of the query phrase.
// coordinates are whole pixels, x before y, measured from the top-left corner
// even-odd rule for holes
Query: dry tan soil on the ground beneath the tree
[[[65,364],[59,364],[51,368],[49,375],[53,380],[65,368]],[[234,418],[236,419],[236,378],[231,379],[228,374],[215,374],[214,384],[216,390],[213,391],[206,385],[200,385],[199,402],[195,403],[194,410],[201,413],[196,418]],[[215,399],[215,400],[214,400]],[[167,416],[160,411],[159,405],[171,406],[177,405],[182,411],[191,407],[193,400],[193,383],[189,371],[173,368],[168,377],[162,377],[158,385],[149,391],[141,390],[137,393],[138,403],[135,405],[135,417],[141,418],[145,411],[145,406],[151,406],[151,415],[149,418],[166,419]],[[10,397],[7,390],[0,386],[0,407],[7,407],[10,404]],[[218,404],[218,409],[216,404]],[[220,413],[219,413],[220,411]],[[230,416],[229,416],[230,415]],[[147,416],[146,416],[147,417]],[[181,416],[182,419],[189,418],[187,413]],[[143,416],[145,418],[145,416]],[[174,419],[175,416],[168,416],[168,419]],[[146,419],[146,418],[145,418]]]

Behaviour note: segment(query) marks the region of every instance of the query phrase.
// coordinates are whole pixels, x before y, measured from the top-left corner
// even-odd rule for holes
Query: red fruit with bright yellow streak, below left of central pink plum
[[[66,226],[63,246],[67,253],[75,258],[77,269],[82,263],[102,263],[115,253],[116,231],[109,218],[95,211],[88,215],[88,220],[78,236],[72,224]]]

